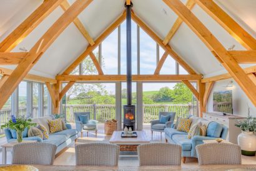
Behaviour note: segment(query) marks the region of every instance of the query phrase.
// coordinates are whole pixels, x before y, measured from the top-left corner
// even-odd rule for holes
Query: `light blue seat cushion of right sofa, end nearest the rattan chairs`
[[[182,147],[182,150],[192,149],[192,141],[191,139],[187,139],[187,135],[185,134],[173,135],[172,140],[175,142],[175,144],[179,144]]]

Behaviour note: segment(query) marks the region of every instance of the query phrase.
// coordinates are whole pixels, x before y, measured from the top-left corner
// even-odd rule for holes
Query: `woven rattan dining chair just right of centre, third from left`
[[[140,165],[180,165],[181,146],[151,143],[138,146]]]

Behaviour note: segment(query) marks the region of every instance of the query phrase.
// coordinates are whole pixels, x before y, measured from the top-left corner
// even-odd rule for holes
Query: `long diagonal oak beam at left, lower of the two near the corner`
[[[15,90],[17,85],[27,75],[29,70],[36,64],[37,60],[48,49],[48,47],[57,39],[64,29],[80,14],[92,0],[75,1],[64,14],[46,31],[44,35],[37,41],[37,43],[29,51],[29,55],[17,65],[16,69],[11,73],[4,85],[0,88],[0,108],[6,103],[11,93]]]

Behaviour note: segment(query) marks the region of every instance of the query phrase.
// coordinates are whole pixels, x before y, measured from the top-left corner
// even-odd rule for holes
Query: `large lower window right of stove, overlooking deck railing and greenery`
[[[175,117],[193,114],[192,92],[184,83],[143,83],[144,123],[159,118],[160,111]]]

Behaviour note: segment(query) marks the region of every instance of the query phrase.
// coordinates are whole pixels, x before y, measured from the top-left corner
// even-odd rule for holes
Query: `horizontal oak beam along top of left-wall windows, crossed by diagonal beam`
[[[11,75],[12,72],[13,72],[13,70],[11,70],[11,69],[0,68],[0,75]],[[41,83],[44,83],[44,82],[49,82],[49,83],[52,83],[52,84],[57,83],[57,81],[55,79],[47,78],[47,77],[39,76],[39,75],[34,75],[34,74],[30,74],[30,73],[28,73],[24,77],[24,80],[37,81],[37,82],[41,82]]]

